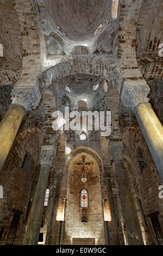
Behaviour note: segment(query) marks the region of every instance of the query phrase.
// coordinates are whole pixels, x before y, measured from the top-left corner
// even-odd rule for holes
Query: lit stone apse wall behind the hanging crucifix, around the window
[[[74,167],[74,161],[79,161],[82,154],[74,157],[70,163],[67,185],[67,204],[65,217],[64,244],[71,245],[73,237],[91,237],[96,239],[96,245],[104,245],[104,221],[102,210],[101,187],[99,183],[98,164],[91,156],[86,155],[86,161],[93,161],[93,166],[86,167],[87,181],[81,181],[79,166]],[[85,187],[89,193],[89,208],[86,210],[87,222],[82,221],[80,208],[80,190]]]

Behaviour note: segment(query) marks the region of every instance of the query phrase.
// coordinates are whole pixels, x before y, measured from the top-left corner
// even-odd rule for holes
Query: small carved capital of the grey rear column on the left
[[[54,160],[55,152],[54,152],[54,146],[42,146],[41,148],[41,155],[40,155],[40,163],[41,164],[48,164],[51,166],[53,160]]]

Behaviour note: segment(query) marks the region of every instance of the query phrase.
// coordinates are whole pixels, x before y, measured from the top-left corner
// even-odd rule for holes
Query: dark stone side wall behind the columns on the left
[[[22,169],[22,163],[27,150],[31,154],[28,172]],[[23,244],[28,223],[28,204],[33,200],[39,175],[40,138],[38,134],[16,139],[4,167],[0,173],[4,198],[1,199],[0,229],[4,227],[1,245],[5,245],[14,213],[13,209],[21,211],[20,221],[16,231],[14,244]]]

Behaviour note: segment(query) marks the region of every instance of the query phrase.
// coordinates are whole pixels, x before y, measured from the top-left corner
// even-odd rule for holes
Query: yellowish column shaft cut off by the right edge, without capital
[[[163,127],[149,103],[140,103],[133,112],[163,181]]]

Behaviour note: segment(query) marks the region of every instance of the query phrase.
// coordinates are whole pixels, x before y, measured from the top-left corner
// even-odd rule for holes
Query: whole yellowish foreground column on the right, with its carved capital
[[[130,107],[136,115],[155,166],[163,181],[163,127],[148,102],[149,90],[147,84],[130,87],[124,85],[121,99],[123,105]]]

